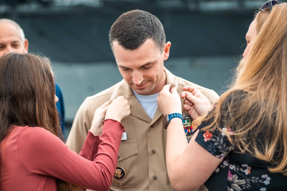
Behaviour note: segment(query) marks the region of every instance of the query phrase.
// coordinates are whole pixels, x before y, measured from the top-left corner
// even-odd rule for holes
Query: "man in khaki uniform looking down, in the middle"
[[[123,134],[110,190],[174,190],[166,170],[164,116],[157,108],[156,97],[164,85],[171,83],[179,94],[184,86],[197,87],[210,103],[219,96],[213,90],[174,76],[164,68],[170,42],[165,43],[164,29],[154,15],[140,10],[124,13],[111,27],[109,38],[124,79],[86,98],[75,116],[67,145],[79,153],[96,108],[123,95],[129,101],[131,114],[121,121],[126,134]],[[188,168],[194,164],[186,165]],[[199,190],[207,189],[201,186]]]

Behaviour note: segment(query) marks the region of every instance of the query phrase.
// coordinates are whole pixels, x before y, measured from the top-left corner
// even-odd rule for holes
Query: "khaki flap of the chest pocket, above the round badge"
[[[124,160],[127,157],[137,154],[137,141],[122,141],[119,149],[118,161]]]

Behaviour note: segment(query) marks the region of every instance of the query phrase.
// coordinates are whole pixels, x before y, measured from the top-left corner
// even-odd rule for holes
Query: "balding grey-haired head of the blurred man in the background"
[[[28,40],[22,28],[10,19],[0,19],[0,56],[9,52],[28,52]]]

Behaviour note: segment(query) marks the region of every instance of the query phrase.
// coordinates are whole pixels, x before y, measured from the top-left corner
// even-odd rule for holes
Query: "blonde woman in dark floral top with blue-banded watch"
[[[196,129],[187,143],[176,89],[158,97],[167,128],[166,165],[176,190],[203,184],[209,191],[287,189],[287,3],[269,0],[246,35],[247,48],[230,89],[210,108],[194,87],[183,109]],[[167,104],[168,103],[168,104]]]

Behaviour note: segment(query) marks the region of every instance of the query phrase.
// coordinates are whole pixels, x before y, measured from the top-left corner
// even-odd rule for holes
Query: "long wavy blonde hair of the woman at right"
[[[235,150],[266,161],[287,175],[287,3],[255,14],[257,36],[239,63],[233,83],[207,117],[202,131],[231,128]]]

